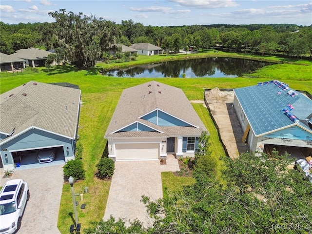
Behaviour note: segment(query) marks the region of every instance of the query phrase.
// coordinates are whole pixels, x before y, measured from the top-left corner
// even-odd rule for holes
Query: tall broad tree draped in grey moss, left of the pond
[[[56,20],[56,46],[78,69],[94,67],[96,59],[116,41],[118,32],[114,22],[83,16],[81,12],[76,15],[65,9],[49,15]]]

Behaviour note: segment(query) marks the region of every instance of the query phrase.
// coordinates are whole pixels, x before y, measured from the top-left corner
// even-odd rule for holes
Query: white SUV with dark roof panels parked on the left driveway
[[[29,200],[26,181],[12,179],[0,191],[0,234],[12,234],[20,229],[26,203]]]

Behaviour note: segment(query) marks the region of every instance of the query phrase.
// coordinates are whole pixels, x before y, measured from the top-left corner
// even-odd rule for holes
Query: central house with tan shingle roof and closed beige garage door
[[[207,131],[181,89],[156,81],[123,90],[105,133],[114,160],[194,156]]]

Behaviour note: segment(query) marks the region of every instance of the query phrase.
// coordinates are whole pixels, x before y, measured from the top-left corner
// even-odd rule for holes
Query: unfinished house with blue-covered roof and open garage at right
[[[278,80],[234,89],[234,109],[251,151],[312,155],[312,100]]]

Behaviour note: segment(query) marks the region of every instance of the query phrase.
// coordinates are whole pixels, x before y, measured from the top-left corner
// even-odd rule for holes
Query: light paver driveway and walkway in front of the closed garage
[[[116,220],[120,217],[126,226],[138,219],[144,227],[151,227],[154,220],[140,202],[141,196],[146,195],[151,201],[162,198],[161,172],[178,170],[177,159],[172,155],[167,157],[166,165],[160,165],[159,160],[117,161],[103,219],[110,215]]]

